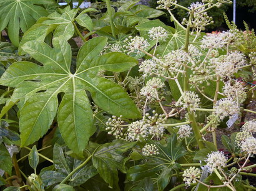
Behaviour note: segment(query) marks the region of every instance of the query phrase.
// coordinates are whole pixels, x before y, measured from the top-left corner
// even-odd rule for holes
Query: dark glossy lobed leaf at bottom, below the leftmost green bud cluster
[[[115,182],[118,182],[117,169],[126,172],[123,167],[125,157],[122,154],[134,147],[135,144],[135,142],[115,140],[99,146],[94,156],[92,156],[94,167],[96,167],[102,179],[109,184],[109,187],[113,188]]]

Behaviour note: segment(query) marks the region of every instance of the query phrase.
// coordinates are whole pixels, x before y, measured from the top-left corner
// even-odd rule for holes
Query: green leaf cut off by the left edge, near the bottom
[[[4,144],[0,144],[0,169],[9,175],[12,174],[12,158]]]

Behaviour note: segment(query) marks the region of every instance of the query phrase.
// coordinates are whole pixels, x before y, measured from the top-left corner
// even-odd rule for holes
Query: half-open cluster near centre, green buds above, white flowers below
[[[160,139],[164,135],[164,126],[166,119],[164,118],[164,114],[158,114],[152,111],[153,116],[150,116],[149,113],[146,113],[143,117],[143,121],[148,126],[149,134],[155,139]]]

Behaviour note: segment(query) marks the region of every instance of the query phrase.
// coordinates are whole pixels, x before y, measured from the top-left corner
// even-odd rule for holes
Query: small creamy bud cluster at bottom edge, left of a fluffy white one
[[[189,167],[189,169],[184,170],[184,174],[182,174],[182,177],[184,177],[183,181],[188,186],[190,186],[191,182],[196,183],[197,181],[195,179],[200,179],[200,176],[200,169],[195,167]]]

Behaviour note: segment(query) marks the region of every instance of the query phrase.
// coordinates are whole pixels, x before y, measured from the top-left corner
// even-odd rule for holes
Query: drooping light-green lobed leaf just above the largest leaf
[[[86,12],[97,10],[88,8],[76,17],[77,11],[78,9],[71,9],[67,6],[61,10],[61,13],[53,12],[47,17],[41,17],[34,26],[27,30],[24,37],[22,37],[21,44],[19,45],[19,53],[25,53],[22,51],[22,45],[26,42],[29,40],[44,40],[50,32],[53,32],[53,37],[63,35],[66,40],[71,39],[75,32],[74,22],[91,31],[92,19]]]

